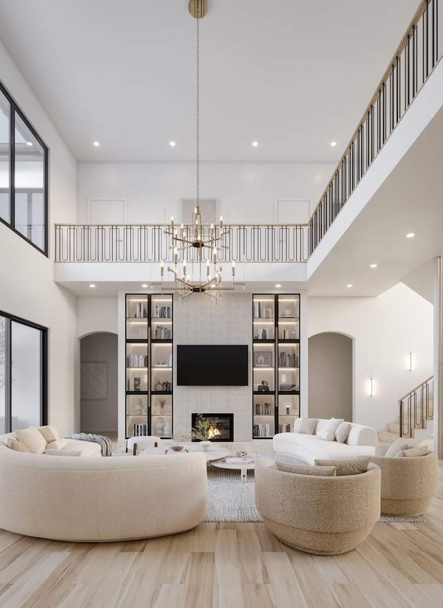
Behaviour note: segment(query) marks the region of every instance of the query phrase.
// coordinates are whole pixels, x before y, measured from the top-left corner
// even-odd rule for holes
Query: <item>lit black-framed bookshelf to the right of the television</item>
[[[253,295],[253,438],[300,416],[300,294]]]

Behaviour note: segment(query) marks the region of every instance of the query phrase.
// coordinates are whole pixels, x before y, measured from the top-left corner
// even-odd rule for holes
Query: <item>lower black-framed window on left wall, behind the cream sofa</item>
[[[47,330],[0,312],[0,433],[47,422]]]

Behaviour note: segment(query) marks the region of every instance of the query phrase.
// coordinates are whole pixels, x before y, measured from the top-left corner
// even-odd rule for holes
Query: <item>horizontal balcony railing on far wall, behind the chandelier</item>
[[[224,227],[225,228],[225,227]],[[191,239],[193,226],[185,226]],[[203,226],[203,240],[209,240],[210,226]],[[243,224],[229,226],[219,241],[220,262],[306,262],[308,226]],[[212,251],[204,248],[203,259]],[[199,249],[178,251],[179,261],[196,262]],[[56,262],[167,262],[172,258],[172,238],[160,224],[55,226]]]

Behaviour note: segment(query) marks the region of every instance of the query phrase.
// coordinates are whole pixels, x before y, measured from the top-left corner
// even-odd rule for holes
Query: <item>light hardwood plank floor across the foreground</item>
[[[442,607],[443,461],[425,517],[376,524],[354,551],[333,557],[285,546],[264,524],[200,524],[107,544],[0,530],[0,607]]]

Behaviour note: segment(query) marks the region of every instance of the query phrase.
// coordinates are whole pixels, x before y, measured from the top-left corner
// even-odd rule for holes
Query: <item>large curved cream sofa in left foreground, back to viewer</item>
[[[204,454],[24,454],[0,436],[0,528],[75,542],[174,534],[206,515]]]

